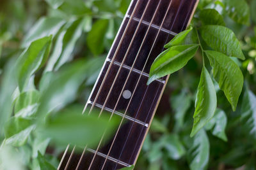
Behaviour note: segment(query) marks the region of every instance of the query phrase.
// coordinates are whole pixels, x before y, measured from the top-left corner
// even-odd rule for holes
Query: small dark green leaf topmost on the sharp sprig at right
[[[205,9],[200,11],[199,18],[204,25],[226,25],[223,17],[214,9]]]

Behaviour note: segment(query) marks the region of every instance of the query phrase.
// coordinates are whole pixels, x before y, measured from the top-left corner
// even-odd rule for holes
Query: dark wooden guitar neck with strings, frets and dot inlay
[[[147,85],[150,66],[164,45],[188,27],[198,0],[133,0],[92,93],[95,108],[120,117],[113,138],[77,154],[67,146],[58,169],[120,169],[136,163],[169,76]],[[71,152],[68,152],[70,150]]]

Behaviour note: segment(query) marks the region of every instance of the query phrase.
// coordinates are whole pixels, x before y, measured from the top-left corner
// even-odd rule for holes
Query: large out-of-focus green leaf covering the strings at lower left
[[[70,108],[64,113],[47,118],[46,124],[38,129],[39,134],[51,138],[58,145],[94,146],[99,143],[102,134],[105,136],[114,132],[118,121],[103,114],[98,118],[99,113],[94,111],[90,116],[82,115],[82,110]]]

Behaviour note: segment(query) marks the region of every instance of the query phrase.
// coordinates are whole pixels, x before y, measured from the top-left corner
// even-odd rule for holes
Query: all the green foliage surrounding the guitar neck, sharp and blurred
[[[111,136],[118,119],[80,113],[130,2],[1,2],[0,169],[56,169],[70,138],[83,148]],[[172,76],[136,166],[125,169],[256,168],[255,6],[199,1],[191,27],[151,68],[148,82]]]

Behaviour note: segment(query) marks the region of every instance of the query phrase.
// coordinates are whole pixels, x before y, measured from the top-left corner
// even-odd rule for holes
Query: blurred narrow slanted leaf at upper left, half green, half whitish
[[[54,64],[54,70],[56,71],[65,62],[68,62],[72,59],[72,52],[76,47],[77,39],[81,37],[83,25],[84,20],[76,20],[72,23],[72,25],[70,25],[70,27],[68,27],[67,31],[65,32],[65,36],[63,36],[61,46],[56,45],[56,48],[54,49],[58,50],[58,52],[52,54],[49,60],[50,69],[47,69],[47,71],[52,71],[52,67],[54,66]]]

